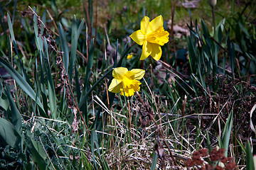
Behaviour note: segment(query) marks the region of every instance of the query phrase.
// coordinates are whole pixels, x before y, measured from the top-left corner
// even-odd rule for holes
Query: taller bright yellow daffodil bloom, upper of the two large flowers
[[[140,60],[146,59],[149,55],[156,61],[161,58],[161,46],[169,41],[169,33],[164,30],[163,25],[164,20],[162,16],[157,16],[150,22],[149,17],[144,16],[141,21],[141,29],[130,35],[132,40],[142,45]]]

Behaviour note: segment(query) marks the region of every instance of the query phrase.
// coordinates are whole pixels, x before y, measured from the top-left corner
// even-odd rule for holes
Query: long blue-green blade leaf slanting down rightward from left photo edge
[[[21,86],[21,89],[23,89],[23,91],[25,91],[25,93],[28,94],[28,96],[30,96],[33,99],[33,101],[36,101],[38,106],[43,110],[44,113],[46,113],[43,109],[43,105],[40,101],[40,98],[36,96],[35,91],[33,91],[31,86],[29,86],[28,82],[25,79],[23,79],[23,77],[21,77],[21,75],[18,74],[18,72],[13,67],[11,67],[11,65],[8,62],[4,61],[1,58],[0,58],[0,65],[2,65],[7,70],[7,72],[9,72],[11,77],[15,79],[18,86]]]

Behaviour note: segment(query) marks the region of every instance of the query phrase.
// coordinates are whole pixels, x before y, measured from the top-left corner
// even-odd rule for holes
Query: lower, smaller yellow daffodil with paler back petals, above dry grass
[[[108,90],[112,93],[120,92],[122,96],[133,96],[135,91],[139,91],[141,82],[138,80],[142,79],[144,74],[144,69],[128,71],[127,68],[117,67],[112,72],[114,79],[112,79]]]

